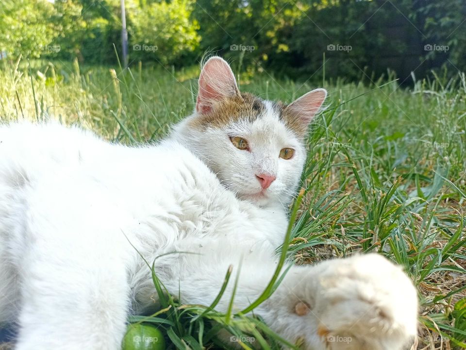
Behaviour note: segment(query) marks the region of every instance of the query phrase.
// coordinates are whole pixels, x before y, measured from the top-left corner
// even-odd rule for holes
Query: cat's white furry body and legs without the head
[[[174,140],[129,148],[77,129],[15,124],[0,128],[0,141],[0,315],[19,322],[18,350],[119,349],[131,304],[155,297],[128,240],[148,261],[201,253],[157,260],[186,303],[209,304],[240,257],[236,309],[274,271],[283,207],[238,200]],[[307,316],[293,313],[299,300],[313,306]],[[351,336],[345,349],[401,349],[416,334],[416,305],[399,267],[367,255],[293,267],[256,313],[308,349],[325,349],[319,326]]]

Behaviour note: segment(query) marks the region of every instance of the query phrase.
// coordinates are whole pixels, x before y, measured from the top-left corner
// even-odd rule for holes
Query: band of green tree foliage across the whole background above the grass
[[[290,76],[321,78],[325,66],[327,77],[358,80],[387,68],[400,77],[466,70],[464,0],[125,2],[130,62],[183,65],[218,52]],[[121,52],[120,0],[0,2],[0,52],[9,57],[115,63],[114,45]]]

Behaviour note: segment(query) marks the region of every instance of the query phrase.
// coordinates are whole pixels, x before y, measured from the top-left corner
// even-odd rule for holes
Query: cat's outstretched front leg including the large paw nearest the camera
[[[232,249],[234,250],[234,248]],[[242,259],[234,310],[246,308],[265,289],[276,260],[270,251],[235,255],[219,249],[216,255],[187,255],[177,259],[172,275],[168,265],[158,269],[168,290],[184,303],[208,305],[230,264]],[[238,262],[235,262],[238,261]],[[171,269],[177,262],[171,262]],[[229,287],[216,309],[225,311]],[[174,278],[180,276],[181,278]],[[416,336],[417,295],[399,267],[380,255],[335,259],[316,266],[292,267],[275,293],[254,310],[275,332],[309,350],[401,350]]]

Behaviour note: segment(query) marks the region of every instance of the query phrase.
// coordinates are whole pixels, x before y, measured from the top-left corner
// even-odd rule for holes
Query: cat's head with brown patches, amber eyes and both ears
[[[287,205],[306,160],[309,123],[326,96],[316,89],[285,105],[241,93],[228,63],[212,57],[200,73],[196,110],[175,137],[239,199]]]

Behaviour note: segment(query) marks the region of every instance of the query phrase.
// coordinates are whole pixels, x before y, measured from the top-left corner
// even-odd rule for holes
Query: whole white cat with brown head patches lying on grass
[[[317,89],[285,106],[241,94],[213,57],[196,111],[158,145],[0,126],[0,323],[18,323],[16,349],[119,349],[130,310],[156,297],[134,248],[150,262],[199,253],[156,260],[184,303],[210,304],[242,259],[234,307],[248,306],[275,270],[325,97]],[[417,295],[400,267],[369,254],[292,267],[254,313],[306,349],[400,350],[416,336]]]

